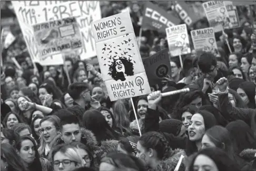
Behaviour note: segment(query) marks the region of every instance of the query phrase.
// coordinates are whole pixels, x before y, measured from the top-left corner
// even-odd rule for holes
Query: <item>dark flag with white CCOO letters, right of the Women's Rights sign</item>
[[[142,28],[165,33],[165,28],[180,24],[180,19],[166,13],[159,6],[147,1],[144,5]]]

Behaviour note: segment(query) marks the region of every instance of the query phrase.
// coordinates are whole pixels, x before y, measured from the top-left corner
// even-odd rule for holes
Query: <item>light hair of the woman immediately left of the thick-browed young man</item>
[[[52,122],[53,125],[56,127],[57,130],[60,130],[60,123],[61,123],[61,119],[60,117],[56,116],[56,115],[50,115],[50,116],[45,116],[41,121],[40,121],[40,126],[44,121],[49,121]],[[52,148],[53,142],[50,143],[50,148]],[[44,137],[42,136],[42,134],[40,135],[40,147],[38,148],[38,153],[40,155],[43,154],[44,149],[45,149],[46,143],[44,141]]]

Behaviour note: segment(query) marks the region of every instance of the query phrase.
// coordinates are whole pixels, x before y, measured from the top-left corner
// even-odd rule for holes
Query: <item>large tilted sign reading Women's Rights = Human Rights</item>
[[[149,94],[150,86],[129,12],[92,24],[96,52],[110,100]]]

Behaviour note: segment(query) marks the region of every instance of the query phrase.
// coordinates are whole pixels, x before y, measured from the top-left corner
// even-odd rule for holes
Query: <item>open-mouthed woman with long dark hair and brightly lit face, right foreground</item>
[[[214,125],[216,125],[216,119],[208,111],[198,111],[191,117],[188,128],[189,138],[186,145],[186,155],[189,156],[201,149],[205,131]]]

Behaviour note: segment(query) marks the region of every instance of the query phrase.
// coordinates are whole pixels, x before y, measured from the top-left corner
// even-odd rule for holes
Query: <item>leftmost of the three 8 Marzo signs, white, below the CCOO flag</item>
[[[191,52],[186,24],[166,28],[166,37],[172,57]]]

